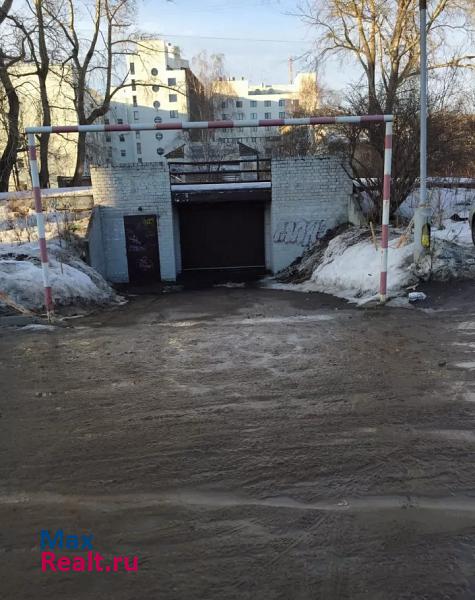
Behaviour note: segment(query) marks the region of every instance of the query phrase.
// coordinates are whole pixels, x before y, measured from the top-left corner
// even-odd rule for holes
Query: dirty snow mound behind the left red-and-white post
[[[50,279],[56,305],[106,304],[118,300],[97,271],[57,242],[48,243]],[[8,304],[42,309],[43,276],[36,243],[0,244],[0,297]]]

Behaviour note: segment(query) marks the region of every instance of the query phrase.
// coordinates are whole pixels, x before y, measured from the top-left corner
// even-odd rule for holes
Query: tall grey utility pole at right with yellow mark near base
[[[420,176],[419,206],[414,213],[414,260],[430,248],[431,209],[427,203],[427,0],[419,0],[420,37]]]

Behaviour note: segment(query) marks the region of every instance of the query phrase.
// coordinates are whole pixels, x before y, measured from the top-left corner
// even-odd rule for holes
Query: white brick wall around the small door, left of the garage
[[[124,216],[155,215],[161,277],[164,281],[175,281],[177,260],[167,163],[92,167],[91,178],[102,229],[105,263],[102,274],[115,283],[128,282]],[[91,256],[99,254],[98,243],[94,236]]]

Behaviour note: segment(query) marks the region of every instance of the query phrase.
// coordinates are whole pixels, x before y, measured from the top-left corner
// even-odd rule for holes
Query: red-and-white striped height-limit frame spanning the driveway
[[[31,180],[35,198],[36,219],[38,224],[38,238],[40,241],[41,264],[45,288],[45,306],[48,318],[53,313],[53,299],[49,282],[48,255],[46,250],[45,227],[41,205],[41,190],[39,187],[38,164],[36,161],[36,148],[34,134],[39,133],[107,133],[111,131],[152,131],[152,130],[181,130],[181,129],[233,129],[237,127],[295,127],[299,125],[335,125],[338,123],[352,123],[362,125],[365,123],[386,123],[385,168],[384,168],[384,200],[383,200],[383,248],[381,259],[381,302],[386,300],[387,263],[388,263],[388,225],[389,225],[389,194],[391,180],[391,141],[392,141],[392,115],[342,115],[335,117],[303,117],[288,119],[260,119],[252,121],[169,121],[165,123],[123,123],[114,125],[53,125],[40,127],[27,127],[28,151],[30,156]],[[388,145],[389,144],[389,145]]]

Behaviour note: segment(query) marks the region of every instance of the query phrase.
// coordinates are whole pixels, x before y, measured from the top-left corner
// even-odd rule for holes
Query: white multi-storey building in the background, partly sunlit
[[[177,46],[164,40],[137,42],[135,53],[128,56],[127,67],[125,86],[114,95],[106,122],[199,119],[199,110],[195,110],[193,103],[200,84]],[[241,142],[259,154],[268,154],[272,144],[280,139],[279,128],[259,128],[257,121],[295,114],[304,88],[307,95],[310,89],[316,97],[315,73],[301,73],[291,84],[253,85],[244,78],[223,80],[215,118],[255,120],[256,127],[217,129],[214,141],[228,146],[229,152]],[[106,138],[107,162],[113,165],[157,162],[180,148],[184,148],[184,156],[192,156],[188,142],[187,134],[180,130],[111,133]]]

